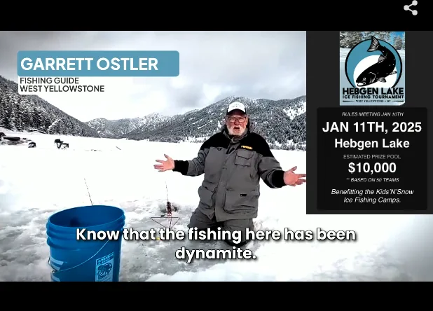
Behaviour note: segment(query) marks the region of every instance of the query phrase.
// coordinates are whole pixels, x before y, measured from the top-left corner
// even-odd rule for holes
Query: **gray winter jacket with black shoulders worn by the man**
[[[231,138],[226,127],[202,144],[193,160],[174,160],[174,172],[205,174],[198,188],[198,209],[209,219],[253,219],[257,216],[260,178],[270,188],[285,186],[280,163],[263,137],[247,130]]]

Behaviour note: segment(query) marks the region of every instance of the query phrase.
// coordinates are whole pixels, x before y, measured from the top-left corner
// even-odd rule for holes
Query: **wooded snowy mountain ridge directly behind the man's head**
[[[154,118],[121,136],[149,141],[204,141],[221,130],[228,104],[239,101],[247,106],[252,130],[266,138],[272,148],[305,150],[305,96],[295,99],[249,99],[227,97],[203,109],[182,115]]]

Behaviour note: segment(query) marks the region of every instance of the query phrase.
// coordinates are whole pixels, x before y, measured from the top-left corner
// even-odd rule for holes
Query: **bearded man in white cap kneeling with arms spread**
[[[226,124],[202,144],[193,160],[156,160],[159,172],[173,170],[186,176],[205,174],[198,188],[200,202],[193,212],[188,228],[219,228],[241,231],[242,242],[228,244],[238,247],[246,244],[247,228],[253,230],[256,218],[260,178],[270,188],[303,184],[306,174],[295,174],[296,167],[284,172],[274,158],[263,137],[249,130],[249,117],[245,105],[233,102],[226,111]]]

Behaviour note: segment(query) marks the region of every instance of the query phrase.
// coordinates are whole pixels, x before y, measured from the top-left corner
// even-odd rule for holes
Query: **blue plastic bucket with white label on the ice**
[[[118,282],[121,268],[121,246],[125,213],[118,207],[92,205],[74,207],[50,216],[47,244],[48,261],[53,272],[53,282]],[[118,239],[77,240],[77,229],[110,234],[117,232]],[[92,237],[89,237],[92,238]]]

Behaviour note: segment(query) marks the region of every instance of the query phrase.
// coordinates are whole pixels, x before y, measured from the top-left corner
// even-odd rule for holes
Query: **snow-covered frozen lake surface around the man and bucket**
[[[191,159],[200,144],[62,137],[8,133],[27,137],[36,148],[0,146],[0,280],[49,281],[46,222],[54,212],[90,205],[125,210],[126,227],[158,228],[167,200],[179,206],[177,230],[186,230],[198,204],[202,177],[160,173],[154,160],[166,153]],[[57,150],[54,139],[69,143]],[[305,172],[305,152],[274,151],[284,169]],[[305,215],[305,185],[270,189],[262,183],[261,230],[355,230],[356,242],[252,243],[255,261],[196,260],[174,257],[187,249],[225,247],[222,242],[123,241],[121,281],[290,281],[290,280],[433,280],[432,216]]]

